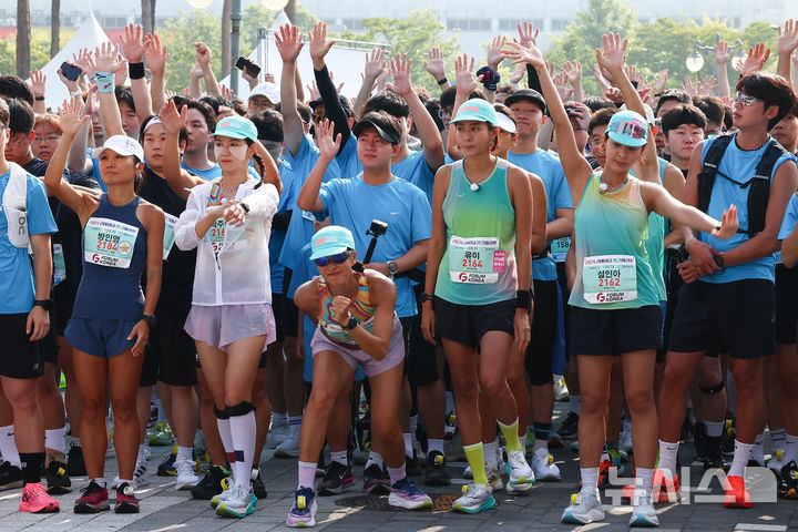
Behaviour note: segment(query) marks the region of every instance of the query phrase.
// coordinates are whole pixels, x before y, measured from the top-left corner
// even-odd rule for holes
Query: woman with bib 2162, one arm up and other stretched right
[[[598,63],[615,79],[627,109],[613,115],[605,133],[606,164],[593,173],[581,155],[571,122],[560,101],[541,52],[508,43],[505,57],[529,63],[541,79],[554,121],[560,160],[571,185],[576,213],[574,242],[576,276],[569,304],[573,307],[571,347],[579,357],[582,411],[579,421],[582,489],[562,515],[564,523],[585,524],[604,519],[597,489],[598,461],[604,447],[604,412],[610,393],[613,356],[621,356],[626,402],[632,415],[636,474],[630,520],[633,526],[658,524],[653,507],[657,417],[654,406],[654,364],[662,315],[645,242],[648,214],[657,214],[728,238],[737,231],[734,206],[723,223],[674,200],[656,184],[658,163],[653,135],[638,114],[643,102],[624,72],[626,42],[604,35]],[[644,153],[645,152],[645,153]],[[630,175],[641,163],[641,180]],[[630,493],[632,495],[632,493]]]

